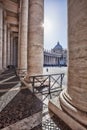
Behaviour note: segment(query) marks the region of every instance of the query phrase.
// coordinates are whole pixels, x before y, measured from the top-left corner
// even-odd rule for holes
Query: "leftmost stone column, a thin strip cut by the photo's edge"
[[[0,72],[2,71],[2,49],[3,48],[3,9],[0,5]]]

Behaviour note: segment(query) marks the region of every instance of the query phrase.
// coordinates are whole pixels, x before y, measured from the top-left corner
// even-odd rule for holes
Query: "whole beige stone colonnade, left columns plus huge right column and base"
[[[43,70],[44,0],[20,0],[20,6],[11,2],[14,8],[11,3],[6,7],[6,1],[11,2],[0,3],[0,70],[18,66],[19,73],[27,70],[29,81]],[[6,19],[5,11],[10,15]],[[72,129],[87,130],[87,0],[68,0],[68,51],[68,88],[49,102],[49,109]]]

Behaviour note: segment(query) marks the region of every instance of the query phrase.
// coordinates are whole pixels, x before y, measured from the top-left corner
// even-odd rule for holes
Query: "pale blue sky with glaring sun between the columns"
[[[44,48],[67,48],[67,0],[44,0]]]

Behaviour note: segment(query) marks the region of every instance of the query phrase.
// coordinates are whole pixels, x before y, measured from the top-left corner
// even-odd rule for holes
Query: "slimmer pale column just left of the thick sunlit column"
[[[27,72],[27,40],[28,40],[28,1],[21,1],[20,43],[19,43],[19,75]]]

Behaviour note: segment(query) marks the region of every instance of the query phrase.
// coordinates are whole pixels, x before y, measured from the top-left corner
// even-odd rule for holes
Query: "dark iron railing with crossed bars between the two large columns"
[[[62,90],[64,73],[30,76],[33,93],[50,94]]]

